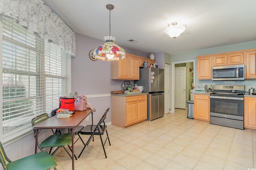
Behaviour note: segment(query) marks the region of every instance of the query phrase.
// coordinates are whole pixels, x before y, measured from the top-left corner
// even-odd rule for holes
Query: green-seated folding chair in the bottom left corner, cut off
[[[4,147],[0,142],[0,161],[4,170],[56,170],[57,163],[54,157],[47,152],[39,152],[25,158],[11,161],[4,152]],[[9,162],[6,164],[6,162]]]

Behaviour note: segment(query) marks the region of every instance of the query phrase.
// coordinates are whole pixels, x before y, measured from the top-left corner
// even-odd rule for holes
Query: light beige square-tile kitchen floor
[[[256,168],[256,131],[240,130],[187,118],[187,110],[128,128],[108,125],[111,146],[105,158],[96,136],[78,160],[76,170],[248,170]],[[105,137],[105,135],[104,135]],[[86,142],[87,135],[82,135]],[[78,155],[82,142],[75,144]],[[71,170],[64,150],[54,157],[58,170]]]

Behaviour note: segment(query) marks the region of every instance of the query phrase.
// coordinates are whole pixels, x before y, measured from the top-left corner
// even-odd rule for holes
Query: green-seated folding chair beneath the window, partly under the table
[[[37,117],[34,117],[31,121],[32,126],[34,126],[34,125],[36,125],[36,124],[38,124],[42,121],[45,121],[46,119],[49,119],[49,115],[47,113],[44,113],[44,114],[39,115]],[[33,129],[33,131],[34,131],[34,134],[36,134],[36,130]],[[58,149],[63,147],[64,150],[66,150],[66,152],[68,153],[68,155],[72,159],[72,156],[70,155],[70,153],[68,152],[68,150],[65,147],[65,146],[68,146],[68,148],[70,148],[70,150],[72,150],[71,147],[69,146],[72,142],[72,134],[70,134],[70,133],[69,134],[55,134],[53,129],[52,129],[52,132],[53,132],[53,135],[46,138],[40,144],[39,144],[39,142],[37,143],[38,148],[40,148],[41,151],[44,151],[43,148],[50,148],[49,154],[51,154],[52,148],[57,147],[52,152],[52,155],[53,155],[57,152]]]

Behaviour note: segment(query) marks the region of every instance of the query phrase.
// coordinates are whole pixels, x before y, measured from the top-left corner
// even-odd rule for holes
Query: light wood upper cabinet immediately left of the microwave
[[[212,79],[212,56],[197,57],[197,79]]]

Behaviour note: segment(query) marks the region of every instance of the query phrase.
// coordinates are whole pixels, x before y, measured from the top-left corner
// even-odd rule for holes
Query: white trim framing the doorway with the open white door
[[[175,87],[175,79],[174,79],[174,69],[175,69],[175,64],[179,64],[179,63],[190,63],[190,62],[193,62],[193,67],[194,67],[194,77],[196,75],[196,60],[195,59],[192,59],[192,60],[185,60],[185,61],[175,61],[175,62],[172,62],[172,108],[171,108],[171,111],[170,113],[174,113],[174,87]],[[194,79],[194,86],[196,85],[196,81]]]

